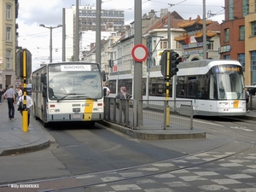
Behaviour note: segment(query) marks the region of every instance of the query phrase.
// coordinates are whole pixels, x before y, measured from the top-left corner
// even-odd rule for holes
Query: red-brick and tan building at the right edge
[[[221,24],[222,59],[241,62],[245,84],[256,84],[256,2],[225,0],[225,19]]]

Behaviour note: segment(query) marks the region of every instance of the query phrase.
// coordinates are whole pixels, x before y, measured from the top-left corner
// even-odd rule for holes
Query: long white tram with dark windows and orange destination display
[[[244,78],[241,64],[230,60],[201,60],[181,62],[177,65],[176,100],[193,102],[194,115],[239,116],[246,115]],[[173,100],[172,82],[169,100]],[[134,95],[133,74],[128,71],[109,75],[110,96],[121,86]],[[143,100],[166,100],[166,84],[160,66],[148,68],[143,75]]]

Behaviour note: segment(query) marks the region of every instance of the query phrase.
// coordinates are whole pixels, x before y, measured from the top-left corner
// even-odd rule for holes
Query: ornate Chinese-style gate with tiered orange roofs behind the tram
[[[206,20],[206,26],[211,24],[212,20]],[[198,15],[194,20],[190,17],[189,20],[183,20],[183,22],[177,23],[177,26],[186,31],[182,35],[174,38],[174,40],[182,45],[183,61],[187,61],[189,57],[193,57],[195,55],[203,57],[203,20],[201,17]],[[217,32],[207,30],[207,44],[210,43],[211,38],[216,34]],[[189,61],[195,60],[200,60],[200,58],[195,57],[194,59],[189,59]]]

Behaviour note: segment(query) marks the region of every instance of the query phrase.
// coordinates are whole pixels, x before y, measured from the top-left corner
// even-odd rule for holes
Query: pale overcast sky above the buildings
[[[160,16],[160,9],[177,11],[184,20],[189,17],[195,19],[197,15],[202,18],[203,0],[142,0],[142,14],[151,9]],[[102,9],[125,10],[125,25],[134,21],[135,0],[102,0]],[[224,0],[206,0],[207,19],[224,20]],[[175,4],[170,6],[170,4]],[[19,0],[20,9],[17,23],[19,25],[19,46],[27,48],[32,53],[35,64],[49,61],[49,29],[45,26],[58,26],[62,23],[62,9],[71,8],[76,0]],[[80,0],[80,6],[90,5],[96,7],[96,0]],[[208,18],[208,13],[214,15]],[[94,43],[94,42],[91,42]],[[53,29],[53,61],[61,61],[61,28]]]

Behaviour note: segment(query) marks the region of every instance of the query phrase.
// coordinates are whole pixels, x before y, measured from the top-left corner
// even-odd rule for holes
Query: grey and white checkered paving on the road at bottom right
[[[256,192],[256,150],[254,153],[230,154],[234,153],[207,152],[77,179],[87,185],[85,191],[91,192]],[[212,161],[216,159],[218,161]]]

